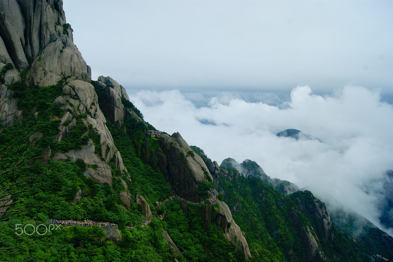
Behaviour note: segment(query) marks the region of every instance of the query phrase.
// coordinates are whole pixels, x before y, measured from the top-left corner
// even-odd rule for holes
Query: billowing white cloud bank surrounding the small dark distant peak
[[[277,106],[225,94],[197,108],[178,90],[143,90],[130,100],[154,127],[180,132],[213,161],[251,159],[268,176],[330,194],[380,227],[385,172],[393,169],[393,106],[377,90],[347,86],[317,96],[298,86]],[[277,137],[285,129],[319,140]]]

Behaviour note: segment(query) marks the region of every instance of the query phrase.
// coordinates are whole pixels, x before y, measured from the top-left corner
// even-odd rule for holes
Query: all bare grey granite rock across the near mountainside
[[[26,87],[37,85],[37,88],[61,85],[61,95],[51,102],[64,111],[57,118],[59,126],[53,142],[61,144],[76,128],[85,130],[81,137],[87,141],[79,148],[66,151],[53,151],[48,146],[41,151],[42,162],[82,159],[86,165],[85,177],[92,178],[97,184],[108,183],[111,187],[115,169],[127,176],[128,170],[107,127],[107,119],[117,129],[125,131],[127,118],[134,118],[145,126],[147,124],[138,111],[132,110],[134,107],[129,102],[125,88],[117,81],[103,76],[92,81],[90,66],[86,65],[73,43],[73,30],[66,23],[62,1],[1,1],[0,26],[2,125],[7,127],[15,121],[22,121],[28,114],[37,115],[38,109],[35,106],[29,112],[18,107],[20,98],[14,95],[13,84],[23,83]],[[103,92],[97,95],[95,90]],[[125,107],[124,103],[132,106]],[[32,146],[38,144],[40,139],[45,138],[44,133],[35,132],[29,137],[29,143]],[[194,202],[206,199],[206,196],[199,194],[200,185],[203,181],[212,181],[213,177],[200,156],[189,154],[192,149],[178,133],[172,137],[163,134],[159,143],[160,149],[154,154],[157,161],[152,162],[152,166],[163,173],[179,196]],[[119,193],[119,199],[124,207],[131,208],[132,202],[141,205],[143,218],[152,221],[154,215],[149,203],[138,194],[133,197],[127,183],[121,177],[119,179],[124,188]],[[81,201],[83,190],[79,189],[74,199]],[[214,212],[211,214],[212,210]],[[226,204],[220,203],[220,211],[215,211],[212,205],[206,204],[204,212],[206,221],[222,227],[224,236],[241,248],[246,258],[250,258],[248,244]],[[163,231],[163,236],[175,253],[181,254],[167,232]],[[114,240],[118,242],[120,238],[116,234]]]

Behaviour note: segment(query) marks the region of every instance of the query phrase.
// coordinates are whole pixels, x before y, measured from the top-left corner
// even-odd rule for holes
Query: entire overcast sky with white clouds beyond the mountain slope
[[[380,225],[375,181],[393,169],[393,1],[63,7],[92,78],[118,81],[157,129],[219,164],[256,161]],[[275,136],[288,128],[321,142]]]

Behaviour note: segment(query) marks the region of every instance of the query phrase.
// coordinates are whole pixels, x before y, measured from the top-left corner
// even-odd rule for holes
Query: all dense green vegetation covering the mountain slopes
[[[76,125],[61,142],[57,141],[60,119],[65,112],[52,102],[62,96],[64,80],[50,87],[28,87],[22,82],[9,86],[13,97],[18,99],[23,120],[8,127],[0,126],[0,189],[10,190],[7,186],[13,185],[11,188],[16,192],[14,205],[8,210],[15,213],[6,214],[0,221],[0,260],[169,262],[173,261],[173,256],[162,234],[165,230],[182,252],[176,255],[180,262],[244,262],[244,253],[225,239],[220,227],[206,220],[204,205],[181,205],[176,199],[154,207],[156,201],[162,202],[173,192],[163,174],[145,162],[160,150],[158,139],[145,134],[145,130],[156,130],[149,123],[130,115],[121,125],[114,125],[107,119],[108,130],[127,168],[127,172],[121,172],[116,169],[114,159],[109,162],[112,185],[96,184],[86,175],[86,168],[95,170],[97,166],[88,166],[82,159],[54,161],[54,155],[81,149],[89,141],[95,146],[95,153],[100,155],[99,135],[92,126],[84,124],[86,114],[74,113]],[[102,108],[106,90],[96,81],[92,84]],[[122,102],[143,119],[130,101],[122,99]],[[188,151],[189,155],[195,152],[207,159],[202,149],[191,148],[193,151]],[[142,153],[142,150],[145,151]],[[320,219],[314,212],[299,206],[299,203],[312,206],[316,199],[311,192],[283,196],[259,177],[244,176],[234,169],[228,171],[228,176],[219,174],[214,181],[203,181],[199,194],[204,196],[209,188],[217,189],[217,198],[226,201],[246,237],[252,255],[250,262],[311,261],[301,237],[302,228],[307,227],[314,230],[320,251],[330,262],[368,261],[366,254],[376,252],[391,259],[391,244],[388,239],[385,245],[380,244],[379,229],[369,227],[367,234],[359,236],[362,241],[354,244],[350,228],[343,233],[332,225],[334,241],[326,240]],[[207,174],[206,170],[204,172]],[[132,197],[144,196],[149,203],[153,214],[149,225],[141,227],[145,220],[143,210],[134,199],[129,208],[123,205],[119,197],[119,193],[125,191],[122,180]],[[75,200],[79,190],[82,198]],[[320,201],[318,204],[325,207]],[[156,214],[162,219],[156,218]],[[121,241],[107,240],[104,229],[98,226],[61,226],[45,234],[45,228],[40,227],[37,231],[42,236],[29,226],[25,232],[32,233],[31,236],[15,234],[15,227],[46,225],[50,218],[116,223],[121,230]]]

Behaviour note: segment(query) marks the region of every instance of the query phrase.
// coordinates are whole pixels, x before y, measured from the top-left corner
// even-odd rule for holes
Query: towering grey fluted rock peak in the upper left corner
[[[32,68],[29,83],[54,85],[64,76],[87,73],[61,0],[4,0],[0,13],[0,61]]]

